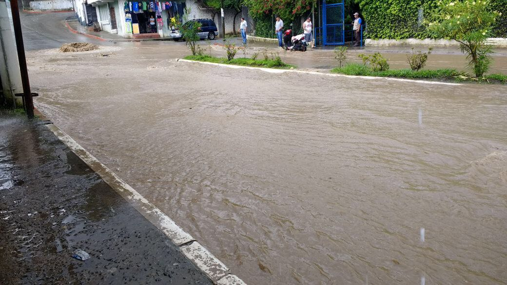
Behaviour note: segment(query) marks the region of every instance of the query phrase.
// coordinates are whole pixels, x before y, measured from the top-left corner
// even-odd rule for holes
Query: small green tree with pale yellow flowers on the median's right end
[[[436,38],[455,40],[466,54],[468,66],[477,77],[489,70],[493,51],[487,45],[495,18],[501,13],[491,11],[488,1],[463,0],[438,2],[435,21],[428,22]]]

